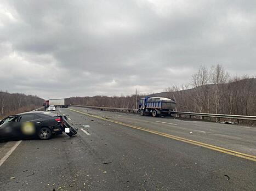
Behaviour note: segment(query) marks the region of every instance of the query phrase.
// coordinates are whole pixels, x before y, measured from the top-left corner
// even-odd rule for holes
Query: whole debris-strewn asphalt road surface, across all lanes
[[[70,109],[77,136],[0,144],[0,190],[256,190],[255,161],[191,144],[256,156],[255,128]]]

